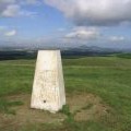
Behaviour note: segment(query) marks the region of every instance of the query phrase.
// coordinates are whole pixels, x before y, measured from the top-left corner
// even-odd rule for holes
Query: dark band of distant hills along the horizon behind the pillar
[[[37,57],[37,50],[44,49],[57,49],[57,48],[38,48],[32,49],[31,48],[10,48],[4,47],[0,49],[0,60],[10,60],[10,59],[23,59],[28,58],[33,59]],[[127,50],[120,49],[112,49],[112,48],[100,48],[96,46],[80,46],[80,47],[70,47],[70,48],[61,48],[61,53],[63,57],[71,57],[71,56],[108,56],[112,53],[123,53],[123,52],[131,52]]]

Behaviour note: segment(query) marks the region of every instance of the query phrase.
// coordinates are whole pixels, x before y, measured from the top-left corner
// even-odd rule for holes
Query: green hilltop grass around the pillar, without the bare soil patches
[[[0,61],[0,109],[7,96],[31,94],[35,60]],[[70,107],[62,114],[69,119],[62,124],[27,124],[20,131],[131,131],[131,59],[110,57],[84,57],[63,59],[67,94],[91,93],[110,107],[109,116],[88,121],[72,119]],[[1,106],[2,105],[2,106]],[[85,105],[84,110],[92,108]],[[7,106],[5,106],[7,108]],[[9,110],[11,106],[8,106]]]

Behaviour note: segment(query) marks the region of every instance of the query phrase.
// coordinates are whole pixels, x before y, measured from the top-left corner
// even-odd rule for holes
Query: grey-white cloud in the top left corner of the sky
[[[15,16],[36,16],[36,12],[23,10],[25,4],[35,4],[36,0],[0,0],[0,16],[15,17]],[[24,4],[23,4],[24,3]]]

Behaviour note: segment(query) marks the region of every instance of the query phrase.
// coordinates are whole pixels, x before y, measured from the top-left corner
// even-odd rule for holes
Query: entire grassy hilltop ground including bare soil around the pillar
[[[0,61],[0,131],[131,131],[131,59],[62,61],[67,106],[57,115],[29,109],[34,59]]]

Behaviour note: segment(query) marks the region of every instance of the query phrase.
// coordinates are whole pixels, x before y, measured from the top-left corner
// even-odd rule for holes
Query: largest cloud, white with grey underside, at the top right
[[[115,25],[131,22],[131,0],[44,0],[76,25]]]

